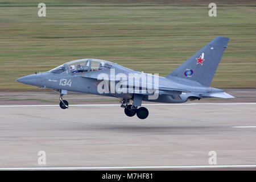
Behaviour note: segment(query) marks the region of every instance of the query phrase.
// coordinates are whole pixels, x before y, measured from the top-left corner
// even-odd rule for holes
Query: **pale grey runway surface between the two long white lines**
[[[144,120],[119,105],[20,105],[0,107],[0,168],[210,166],[209,151],[256,164],[255,102],[146,105]]]

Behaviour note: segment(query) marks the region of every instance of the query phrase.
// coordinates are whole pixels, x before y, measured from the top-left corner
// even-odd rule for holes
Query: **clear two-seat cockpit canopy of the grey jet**
[[[51,73],[61,74],[61,73],[82,73],[91,71],[101,71],[104,69],[112,68],[113,64],[109,61],[99,60],[99,59],[80,59],[75,61],[70,61],[57,68],[52,69]]]

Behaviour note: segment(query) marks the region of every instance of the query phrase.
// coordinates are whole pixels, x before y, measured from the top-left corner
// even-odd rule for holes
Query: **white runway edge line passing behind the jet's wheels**
[[[231,102],[231,103],[187,103],[187,104],[142,104],[143,106],[160,105],[256,105],[256,102]],[[2,105],[0,107],[57,107],[59,105]],[[69,106],[120,106],[120,104],[76,104]]]

